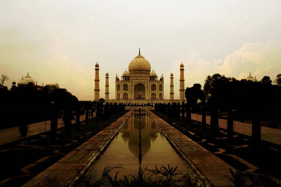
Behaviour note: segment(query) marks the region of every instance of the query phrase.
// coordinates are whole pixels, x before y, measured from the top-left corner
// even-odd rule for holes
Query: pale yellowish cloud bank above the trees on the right
[[[203,86],[205,78],[215,73],[244,79],[251,72],[258,80],[265,75],[270,76],[273,80],[277,74],[281,73],[280,41],[245,43],[240,49],[226,55],[224,59],[208,59],[210,54],[217,51],[219,52],[219,48],[216,46],[201,46],[200,49],[193,50],[186,56],[180,54],[174,60],[173,72],[179,71],[178,65],[183,61],[185,87],[190,87],[195,83]],[[179,87],[177,79],[174,79],[174,84],[175,90],[177,90]],[[178,97],[176,92],[175,95]]]

